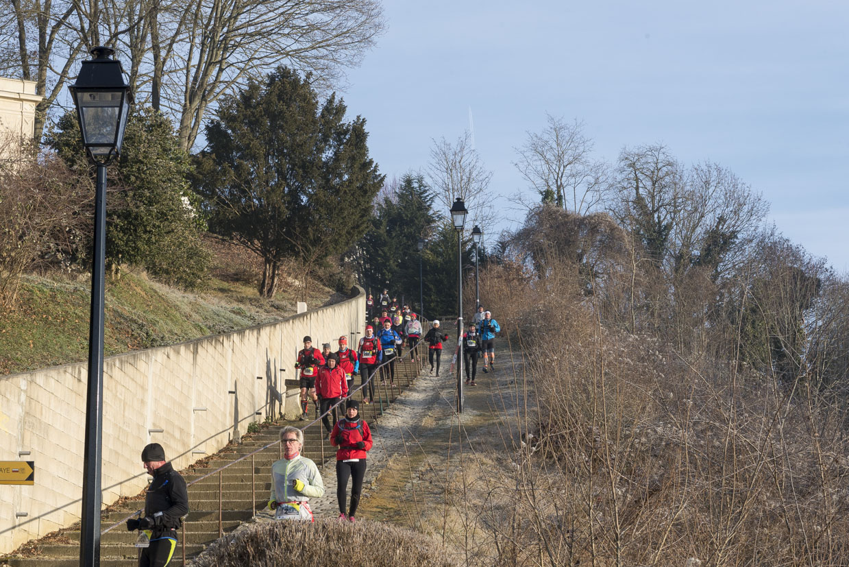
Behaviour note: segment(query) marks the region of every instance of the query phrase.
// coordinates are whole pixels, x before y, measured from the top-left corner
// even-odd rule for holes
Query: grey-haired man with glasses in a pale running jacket
[[[324,483],[316,463],[301,456],[304,434],[291,426],[280,429],[283,458],[271,466],[268,509],[275,519],[315,521],[309,499],[324,496]]]

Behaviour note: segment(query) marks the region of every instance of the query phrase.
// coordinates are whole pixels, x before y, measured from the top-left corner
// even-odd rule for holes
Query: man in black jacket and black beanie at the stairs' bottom
[[[177,529],[188,513],[186,481],[166,462],[165,450],[159,443],[144,447],[142,462],[154,479],[144,498],[144,517],[128,519],[127,530],[143,530],[150,539],[149,547],[142,547],[138,557],[139,567],[165,567],[171,563],[177,547]]]

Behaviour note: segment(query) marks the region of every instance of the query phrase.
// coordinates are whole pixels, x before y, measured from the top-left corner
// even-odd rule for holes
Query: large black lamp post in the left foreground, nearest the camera
[[[91,50],[69,87],[80,122],[82,143],[97,165],[92,253],[92,308],[88,327],[86,434],[82,467],[80,564],[100,564],[100,466],[103,459],[104,264],[106,256],[106,165],[121,153],[132,93],[112,48]]]

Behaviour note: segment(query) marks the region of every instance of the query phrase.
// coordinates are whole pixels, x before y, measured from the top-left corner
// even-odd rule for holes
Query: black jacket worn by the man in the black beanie
[[[153,535],[177,537],[177,528],[183,525],[183,516],[188,513],[188,490],[180,473],[166,462],[154,471],[153,482],[144,498],[144,516],[154,520]]]

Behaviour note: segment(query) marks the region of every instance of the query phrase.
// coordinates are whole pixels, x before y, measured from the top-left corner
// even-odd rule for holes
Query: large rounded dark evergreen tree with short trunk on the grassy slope
[[[368,230],[383,176],[365,120],[345,113],[335,94],[319,105],[310,76],[280,67],[225,97],[206,128],[197,190],[211,230],[263,259],[262,296],[277,291],[284,258],[309,271]]]

